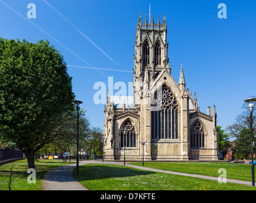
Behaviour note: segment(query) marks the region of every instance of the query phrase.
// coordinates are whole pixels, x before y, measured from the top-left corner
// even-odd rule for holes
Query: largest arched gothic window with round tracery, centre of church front
[[[178,103],[172,91],[163,86],[154,95],[156,104],[151,110],[151,138],[178,138]]]

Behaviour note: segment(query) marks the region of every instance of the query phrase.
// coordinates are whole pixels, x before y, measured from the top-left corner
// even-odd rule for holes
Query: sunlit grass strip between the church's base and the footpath
[[[142,162],[130,162],[129,164],[142,166]],[[144,162],[144,167],[214,177],[219,177],[218,170],[224,168],[227,171],[227,179],[252,181],[252,166],[248,164],[227,162]]]

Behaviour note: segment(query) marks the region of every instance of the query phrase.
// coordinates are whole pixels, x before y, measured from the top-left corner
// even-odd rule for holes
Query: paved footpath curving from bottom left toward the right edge
[[[83,160],[79,162],[79,166],[82,166],[84,164],[116,164],[116,165],[123,166],[123,162],[106,162],[106,161],[102,162],[97,160]],[[181,176],[189,176],[194,178],[203,178],[207,180],[218,181],[217,177],[212,177],[212,176],[164,171],[164,170],[153,169],[149,167],[135,166],[131,164],[126,164],[126,166],[135,167],[141,170],[159,172],[159,173],[169,173],[169,174],[176,174]],[[60,166],[55,169],[52,169],[51,171],[48,171],[48,173],[44,175],[44,180],[43,180],[44,190],[88,190],[87,188],[84,188],[83,185],[81,185],[74,178],[72,171],[74,170],[75,167],[76,167],[76,164],[69,164],[69,165]],[[251,181],[227,179],[227,182],[252,185]]]

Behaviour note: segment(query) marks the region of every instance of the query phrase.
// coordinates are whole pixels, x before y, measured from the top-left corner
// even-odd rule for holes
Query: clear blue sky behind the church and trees
[[[27,18],[29,3],[36,5],[36,18]],[[217,124],[225,129],[243,111],[244,100],[256,95],[253,0],[0,0],[0,37],[32,43],[48,39],[65,58],[73,91],[84,102],[81,107],[91,126],[103,129],[104,105],[94,103],[98,90],[93,85],[107,85],[107,77],[125,82],[127,88],[133,81],[138,13],[142,22],[145,15],[149,21],[149,3],[155,22],[158,16],[163,20],[163,13],[166,16],[173,78],[179,82],[182,64],[186,88],[193,96],[196,92],[201,112],[216,105]],[[218,18],[220,3],[227,6],[226,19]]]

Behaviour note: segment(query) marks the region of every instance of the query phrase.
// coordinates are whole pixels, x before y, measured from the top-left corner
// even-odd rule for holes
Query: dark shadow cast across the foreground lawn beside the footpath
[[[76,171],[76,170],[74,170]],[[123,167],[108,164],[86,164],[79,167],[79,175],[74,176],[79,181],[100,180],[104,178],[123,178],[129,176],[144,176],[153,174],[151,171],[141,171],[131,167]]]

